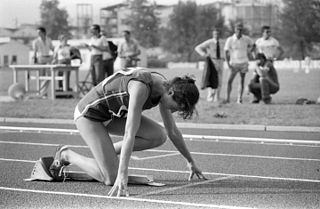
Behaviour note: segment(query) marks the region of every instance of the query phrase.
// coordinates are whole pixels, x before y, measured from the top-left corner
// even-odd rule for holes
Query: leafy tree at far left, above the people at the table
[[[41,25],[52,39],[58,39],[60,34],[70,35],[68,12],[58,6],[58,0],[42,0],[40,5]]]

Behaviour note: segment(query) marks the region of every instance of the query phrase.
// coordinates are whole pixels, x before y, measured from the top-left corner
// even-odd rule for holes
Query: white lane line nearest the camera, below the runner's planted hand
[[[10,187],[0,187],[0,190],[15,191],[15,192],[30,192],[30,193],[40,193],[40,194],[66,195],[66,196],[76,196],[76,197],[90,197],[90,198],[101,198],[101,199],[113,199],[113,200],[127,200],[127,201],[149,202],[149,203],[158,203],[158,204],[166,204],[166,205],[207,207],[207,208],[216,208],[216,209],[217,208],[218,209],[253,209],[251,207],[237,207],[237,206],[231,206],[231,205],[201,204],[201,203],[177,202],[177,201],[169,201],[169,200],[144,199],[144,198],[135,198],[135,197],[109,197],[109,196],[97,195],[97,194],[58,192],[58,191],[46,191],[46,190],[34,190],[34,189],[10,188]]]

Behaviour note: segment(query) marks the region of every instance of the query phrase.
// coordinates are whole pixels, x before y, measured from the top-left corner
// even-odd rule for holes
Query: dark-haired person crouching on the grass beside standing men
[[[257,66],[249,84],[249,91],[254,95],[252,103],[259,103],[262,100],[265,104],[270,104],[270,94],[277,93],[280,88],[278,75],[272,61],[264,54],[258,53],[256,59]]]

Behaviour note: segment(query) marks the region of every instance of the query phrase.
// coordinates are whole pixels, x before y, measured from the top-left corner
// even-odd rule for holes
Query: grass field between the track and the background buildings
[[[153,69],[152,69],[153,70]],[[198,69],[154,69],[167,78],[176,75],[194,75],[199,85],[202,72]],[[83,79],[86,71],[80,72]],[[296,105],[298,98],[317,100],[320,96],[320,70],[313,70],[305,74],[302,70],[293,72],[290,70],[278,70],[280,91],[273,96],[273,104],[250,104],[252,95],[244,94],[244,102],[236,104],[236,94],[239,76],[233,83],[232,103],[216,107],[206,101],[206,91],[201,90],[200,101],[197,105],[197,116],[192,120],[179,122],[212,123],[212,124],[256,124],[256,125],[288,125],[288,126],[320,126],[320,105]],[[228,70],[224,71],[221,95],[226,96],[226,79]],[[250,71],[246,77],[246,83],[252,77]],[[19,75],[20,81],[24,75]],[[10,69],[0,69],[0,95],[7,95],[7,90],[12,83]],[[81,79],[80,79],[81,80]],[[21,82],[23,83],[23,82]],[[79,99],[31,99],[27,101],[0,102],[0,117],[21,118],[59,118],[72,119],[73,110]],[[217,113],[226,117],[217,117]],[[145,115],[160,121],[160,115],[156,109],[144,112]]]

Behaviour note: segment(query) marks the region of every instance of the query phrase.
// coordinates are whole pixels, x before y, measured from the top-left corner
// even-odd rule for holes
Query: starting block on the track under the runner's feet
[[[61,179],[55,179],[49,172],[50,165],[53,163],[53,157],[41,157],[36,161],[30,178],[24,179],[25,181],[62,181]],[[91,176],[81,171],[69,171],[67,168],[63,170],[63,181],[96,181]],[[163,183],[155,182],[153,176],[150,175],[129,175],[128,184],[134,185],[147,185],[162,187]]]

